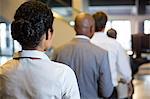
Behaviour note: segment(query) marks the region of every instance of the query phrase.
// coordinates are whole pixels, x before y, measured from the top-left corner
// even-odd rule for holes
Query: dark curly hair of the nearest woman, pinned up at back
[[[11,35],[23,48],[35,48],[41,41],[41,37],[48,29],[53,31],[53,13],[47,5],[39,1],[23,3],[16,11],[14,21],[11,24]]]

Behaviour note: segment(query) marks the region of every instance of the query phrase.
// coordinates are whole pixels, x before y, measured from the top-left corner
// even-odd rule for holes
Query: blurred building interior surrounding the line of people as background
[[[21,50],[11,37],[11,22],[16,9],[28,0],[0,0],[0,65]],[[80,12],[108,14],[105,31],[114,28],[117,41],[130,57],[133,74],[133,99],[150,99],[150,0],[39,0],[54,13],[54,39],[46,52],[51,58],[53,48],[71,40],[74,18]]]

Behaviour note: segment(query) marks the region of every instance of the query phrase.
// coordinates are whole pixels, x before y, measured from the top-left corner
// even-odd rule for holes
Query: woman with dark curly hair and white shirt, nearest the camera
[[[0,99],[80,99],[72,69],[44,53],[51,47],[53,20],[51,9],[38,1],[17,9],[11,34],[22,51],[0,67]]]

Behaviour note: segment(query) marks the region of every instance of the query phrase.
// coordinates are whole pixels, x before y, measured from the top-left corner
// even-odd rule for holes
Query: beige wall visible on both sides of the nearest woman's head
[[[11,22],[16,9],[25,1],[27,0],[0,0],[1,15]],[[70,27],[68,23],[56,18],[54,20],[54,38],[52,46],[58,47],[66,43],[74,37],[74,34],[74,29]]]

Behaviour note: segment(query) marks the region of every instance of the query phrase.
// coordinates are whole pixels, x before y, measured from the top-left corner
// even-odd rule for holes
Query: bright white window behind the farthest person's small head
[[[117,31],[117,41],[126,50],[131,49],[131,22],[129,20],[113,20],[106,24],[106,31],[114,28]]]

